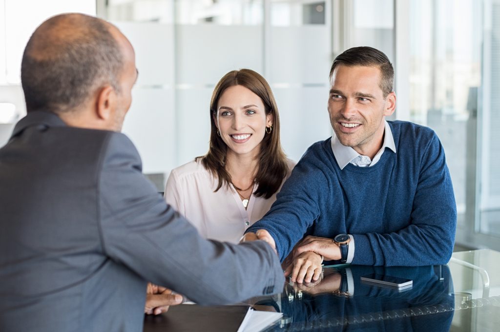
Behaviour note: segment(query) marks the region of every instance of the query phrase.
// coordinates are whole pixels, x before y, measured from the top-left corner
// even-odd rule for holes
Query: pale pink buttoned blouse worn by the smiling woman
[[[290,175],[295,162],[287,159],[287,164],[288,172],[283,182]],[[218,180],[200,161],[191,161],[170,172],[166,181],[165,200],[184,215],[201,236],[237,243],[245,229],[269,210],[276,200],[276,193],[267,199],[255,197],[253,193],[258,187],[255,184],[245,210],[232,184],[229,184],[229,188],[222,184],[218,191],[213,192],[217,183]]]

